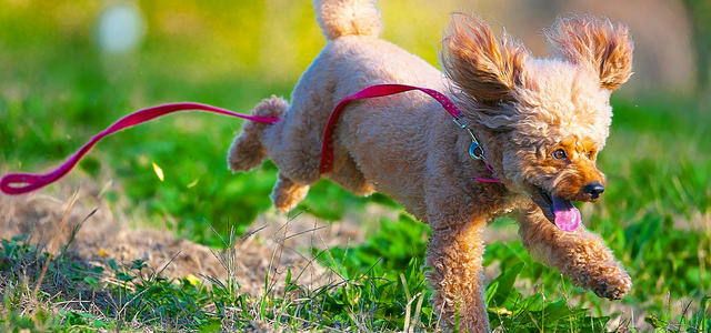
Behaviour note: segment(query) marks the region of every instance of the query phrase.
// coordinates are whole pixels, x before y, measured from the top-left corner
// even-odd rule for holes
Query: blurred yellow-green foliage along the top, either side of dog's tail
[[[148,28],[138,52],[123,58],[131,58],[131,71],[150,69],[164,79],[193,84],[229,81],[234,77],[264,83],[293,83],[326,44],[313,19],[311,2],[128,1],[126,3],[133,3],[143,13]],[[441,2],[422,1],[419,6],[410,2],[379,3],[384,24],[391,27],[383,38],[437,63],[433,43],[439,42],[449,11]],[[21,49],[23,58],[30,57],[23,62],[32,64],[29,60],[36,60],[37,64],[31,65],[36,70],[40,69],[39,63],[56,54],[91,50],[93,57],[102,58],[92,48],[96,23],[110,4],[87,0],[2,1],[0,47]],[[411,24],[411,18],[420,18],[418,24]],[[69,50],[58,50],[58,47]],[[104,70],[112,71],[113,65],[109,61]]]

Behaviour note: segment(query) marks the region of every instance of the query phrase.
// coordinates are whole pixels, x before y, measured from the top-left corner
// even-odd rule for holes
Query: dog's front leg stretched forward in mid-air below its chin
[[[562,231],[538,208],[521,213],[517,220],[521,242],[531,256],[558,269],[573,284],[610,300],[622,299],[630,291],[630,275],[602,239],[582,224],[575,231]]]

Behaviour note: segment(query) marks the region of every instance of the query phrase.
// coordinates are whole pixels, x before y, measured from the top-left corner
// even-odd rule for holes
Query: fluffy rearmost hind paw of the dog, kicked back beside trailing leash
[[[271,99],[259,103],[252,114],[282,118],[287,110],[289,110],[289,103],[272,95]],[[227,158],[232,171],[249,171],[261,165],[262,161],[267,159],[267,148],[262,143],[262,137],[268,127],[272,127],[272,124],[256,121],[246,121],[242,124],[242,133],[234,139]]]

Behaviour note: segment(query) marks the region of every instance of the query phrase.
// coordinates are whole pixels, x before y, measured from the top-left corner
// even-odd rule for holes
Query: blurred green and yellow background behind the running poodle
[[[663,309],[668,293],[698,300],[708,292],[709,1],[382,0],[378,6],[383,38],[433,64],[449,13],[462,8],[500,21],[540,57],[545,54],[540,29],[561,12],[595,11],[629,23],[635,74],[613,94],[611,137],[599,161],[609,185],[600,202],[582,204],[583,220],[630,270],[635,287],[625,304]],[[495,23],[494,29],[501,30]],[[306,0],[0,0],[0,171],[50,170],[141,108],[193,101],[248,113],[271,94],[289,98],[324,44]],[[90,179],[101,188],[112,180],[104,195],[117,209],[140,211],[156,225],[168,220],[180,235],[217,245],[208,223],[220,232],[228,224],[244,231],[260,212],[273,210],[273,164],[247,174],[227,169],[227,150],[240,125],[199,113],[142,124],[104,139],[60,185]],[[162,168],[164,181],[152,163]],[[57,186],[42,191],[56,193]],[[119,205],[122,200],[128,204]],[[357,198],[322,182],[297,211],[337,221],[370,202],[397,209],[383,195]],[[493,228],[510,229],[510,222]],[[422,252],[422,238],[408,239],[410,231],[403,239],[375,235],[379,245],[363,251],[379,258],[402,249],[395,252],[410,255],[419,242],[414,248]],[[555,286],[560,280],[533,264],[518,242],[489,249],[488,263],[529,262],[522,276],[531,285]],[[599,304],[594,296],[583,300]]]

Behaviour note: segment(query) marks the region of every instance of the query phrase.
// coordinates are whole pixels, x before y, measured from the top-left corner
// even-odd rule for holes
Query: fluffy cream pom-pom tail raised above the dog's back
[[[316,0],[317,20],[329,40],[343,36],[378,37],[382,32],[374,0]]]

